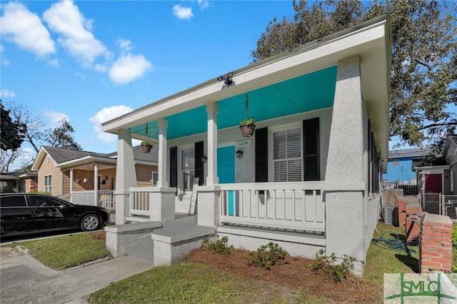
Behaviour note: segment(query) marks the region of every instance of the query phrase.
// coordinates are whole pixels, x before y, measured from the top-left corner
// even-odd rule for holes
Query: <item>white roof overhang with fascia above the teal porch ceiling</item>
[[[141,139],[141,136],[145,136],[145,128],[139,126],[149,126],[149,123],[154,126],[154,122],[160,118],[185,111],[196,111],[206,103],[222,102],[236,96],[244,103],[244,96],[248,92],[271,88],[282,81],[337,66],[338,61],[351,56],[360,58],[363,101],[366,103],[371,119],[371,130],[376,145],[381,151],[382,169],[386,171],[391,84],[391,16],[389,15],[372,19],[346,31],[300,46],[293,51],[278,54],[233,71],[231,86],[225,86],[217,78],[213,78],[186,91],[106,121],[102,125],[105,132],[113,134],[119,134],[121,130],[139,130],[138,133],[133,132],[132,137]],[[223,109],[219,108],[218,115],[221,115],[221,111]],[[233,126],[236,125],[239,125],[238,119],[233,121]],[[148,136],[151,136],[150,134],[151,132]]]

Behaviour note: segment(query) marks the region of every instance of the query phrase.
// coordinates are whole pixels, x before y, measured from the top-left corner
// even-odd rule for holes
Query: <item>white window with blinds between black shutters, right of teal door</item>
[[[273,180],[275,182],[301,181],[301,128],[273,133]]]

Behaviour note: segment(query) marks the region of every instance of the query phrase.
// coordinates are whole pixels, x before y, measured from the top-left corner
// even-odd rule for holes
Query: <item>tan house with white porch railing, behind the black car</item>
[[[157,179],[157,148],[132,150],[135,186],[152,186]],[[94,153],[42,146],[32,170],[38,171],[38,190],[81,205],[114,209],[117,153]]]

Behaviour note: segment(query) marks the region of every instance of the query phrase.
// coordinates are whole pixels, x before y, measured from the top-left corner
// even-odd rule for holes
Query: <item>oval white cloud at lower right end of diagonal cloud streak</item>
[[[109,78],[117,84],[126,84],[144,76],[146,71],[152,69],[151,62],[143,55],[126,54],[119,57],[109,69]]]

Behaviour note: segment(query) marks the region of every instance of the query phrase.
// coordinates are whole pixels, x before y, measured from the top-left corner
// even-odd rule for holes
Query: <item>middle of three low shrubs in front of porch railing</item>
[[[261,245],[257,251],[250,251],[245,258],[249,261],[249,265],[255,265],[265,269],[271,269],[280,260],[283,260],[287,251],[278,244],[270,242],[268,245]]]

